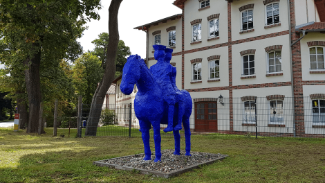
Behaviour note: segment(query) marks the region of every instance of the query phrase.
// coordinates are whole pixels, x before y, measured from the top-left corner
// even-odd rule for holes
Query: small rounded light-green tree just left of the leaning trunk
[[[82,103],[91,104],[97,83],[102,79],[103,73],[100,59],[93,53],[84,53],[75,61],[73,84],[75,92],[83,96]]]

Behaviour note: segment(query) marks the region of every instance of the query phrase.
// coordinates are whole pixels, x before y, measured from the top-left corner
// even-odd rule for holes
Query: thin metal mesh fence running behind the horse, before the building
[[[325,100],[310,97],[193,98],[190,128],[192,134],[230,137],[325,137]],[[82,105],[85,128],[91,105]],[[141,137],[133,103],[99,106],[97,136]],[[107,112],[109,111],[109,112]],[[105,113],[106,112],[106,113]],[[105,114],[109,114],[108,118]],[[160,125],[163,130],[167,125]],[[82,134],[84,135],[82,130]],[[183,130],[182,130],[183,131]],[[161,132],[172,137],[172,132]]]

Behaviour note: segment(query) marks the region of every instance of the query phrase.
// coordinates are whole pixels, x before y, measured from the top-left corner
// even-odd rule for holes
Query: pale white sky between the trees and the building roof
[[[180,8],[172,5],[175,0],[123,0],[118,12],[118,30],[120,40],[130,47],[133,55],[146,57],[146,33],[133,29],[165,17],[182,13]],[[84,51],[93,50],[95,45],[91,42],[98,38],[100,33],[109,33],[109,5],[110,0],[102,0],[102,9],[98,10],[100,20],[88,21],[89,26],[77,41]],[[0,64],[0,68],[3,65]]]

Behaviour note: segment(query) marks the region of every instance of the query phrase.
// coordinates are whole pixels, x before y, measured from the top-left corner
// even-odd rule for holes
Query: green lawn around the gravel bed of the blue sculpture
[[[53,137],[0,128],[0,182],[324,182],[325,139],[192,136],[192,151],[229,155],[168,180],[93,166],[92,162],[143,153],[139,137]],[[122,130],[122,128],[121,128]],[[65,130],[67,134],[68,130]],[[57,134],[63,134],[58,129]],[[181,148],[185,139],[181,137]],[[173,138],[162,139],[173,148]],[[151,137],[151,150],[154,141]]]

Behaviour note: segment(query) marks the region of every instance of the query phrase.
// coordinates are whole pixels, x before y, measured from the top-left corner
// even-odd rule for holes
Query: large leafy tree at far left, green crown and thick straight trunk
[[[86,19],[99,19],[100,0],[0,0],[0,28],[24,64],[28,94],[28,129],[38,131],[41,62],[69,58]],[[85,15],[85,17],[84,17]],[[1,36],[2,37],[2,36]],[[50,59],[49,59],[50,58]]]

